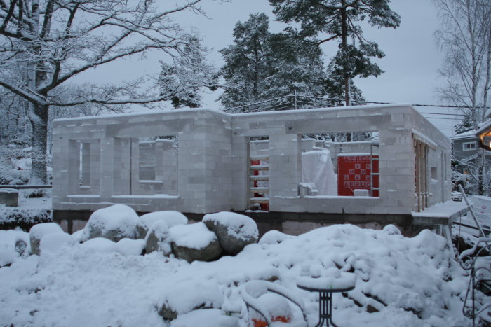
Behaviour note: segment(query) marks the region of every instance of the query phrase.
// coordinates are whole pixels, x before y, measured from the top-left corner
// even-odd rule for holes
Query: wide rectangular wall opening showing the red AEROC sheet
[[[303,134],[301,165],[301,197],[379,197],[378,132]]]

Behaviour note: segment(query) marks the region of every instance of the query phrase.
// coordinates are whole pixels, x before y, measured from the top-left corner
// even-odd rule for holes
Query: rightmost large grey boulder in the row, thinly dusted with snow
[[[259,231],[252,218],[234,212],[207,214],[203,223],[215,232],[225,253],[235,255],[252,243],[257,243]]]

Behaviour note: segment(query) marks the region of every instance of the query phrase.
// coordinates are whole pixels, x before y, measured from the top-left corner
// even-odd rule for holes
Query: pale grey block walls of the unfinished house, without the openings
[[[140,212],[244,211],[248,209],[249,141],[264,136],[269,137],[271,211],[408,215],[415,209],[415,131],[432,146],[429,202],[449,200],[450,140],[411,106],[237,115],[189,109],[55,120],[53,209],[93,211],[123,203]],[[299,196],[302,148],[315,144],[302,141],[302,134],[326,132],[378,132],[379,197]],[[139,153],[139,137],[163,135],[175,136],[177,145],[173,148],[157,140],[149,146],[155,157]],[[339,147],[332,144],[330,150],[334,154]],[[82,155],[81,148],[87,149]],[[342,148],[370,153],[367,143]],[[154,158],[154,183],[142,185],[138,178],[141,158]]]

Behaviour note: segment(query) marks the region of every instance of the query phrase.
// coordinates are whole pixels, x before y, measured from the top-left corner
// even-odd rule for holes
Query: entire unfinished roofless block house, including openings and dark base
[[[363,137],[335,137],[347,133]],[[446,223],[422,213],[448,200],[450,140],[409,105],[189,109],[53,125],[53,213],[69,230],[121,203],[195,220],[245,211],[262,231],[292,234],[344,222],[410,231]]]

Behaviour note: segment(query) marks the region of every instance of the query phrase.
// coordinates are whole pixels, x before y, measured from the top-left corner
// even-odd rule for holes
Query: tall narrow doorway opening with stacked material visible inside
[[[269,137],[249,138],[248,208],[269,211]]]

